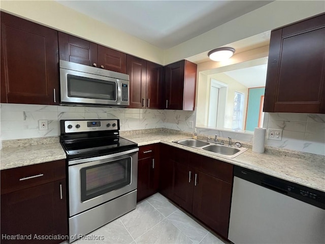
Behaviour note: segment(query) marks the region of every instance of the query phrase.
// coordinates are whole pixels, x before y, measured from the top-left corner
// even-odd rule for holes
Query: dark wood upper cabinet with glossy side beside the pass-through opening
[[[194,110],[196,96],[197,65],[188,60],[165,67],[164,108]]]

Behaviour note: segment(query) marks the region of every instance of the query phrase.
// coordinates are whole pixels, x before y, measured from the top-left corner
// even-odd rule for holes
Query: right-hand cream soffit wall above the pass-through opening
[[[274,1],[165,52],[165,64],[323,13],[325,1]],[[216,13],[217,14],[217,13]]]

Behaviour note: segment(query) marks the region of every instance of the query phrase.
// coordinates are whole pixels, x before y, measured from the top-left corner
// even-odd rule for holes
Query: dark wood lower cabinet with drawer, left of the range
[[[62,175],[58,171],[64,170],[65,176],[64,165],[65,161],[61,160],[1,171],[1,243],[61,243],[67,239],[66,178],[57,179]],[[46,168],[51,170],[43,171]],[[29,174],[33,170],[38,173]],[[9,177],[21,175],[24,171],[28,172],[26,177],[40,173],[43,176],[18,179],[17,182],[11,180],[13,187],[10,189],[15,190],[8,192],[6,181]],[[43,182],[37,185],[37,181]]]

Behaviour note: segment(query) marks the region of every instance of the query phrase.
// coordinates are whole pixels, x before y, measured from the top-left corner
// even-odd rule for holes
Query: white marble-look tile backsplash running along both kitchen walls
[[[192,133],[196,112],[129,108],[100,108],[1,104],[1,140],[58,136],[60,119],[120,119],[121,131],[167,128]],[[47,131],[40,131],[38,120],[47,119]],[[264,128],[283,130],[282,140],[266,140],[266,145],[305,153],[325,155],[325,115],[301,113],[265,113]],[[198,128],[199,134],[233,141],[253,141],[253,133]]]

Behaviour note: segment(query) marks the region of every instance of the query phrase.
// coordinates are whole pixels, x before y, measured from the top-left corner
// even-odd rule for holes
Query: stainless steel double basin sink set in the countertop
[[[213,142],[207,142],[198,139],[185,139],[173,142],[183,146],[189,146],[200,150],[209,151],[210,153],[214,153],[216,155],[220,155],[227,158],[235,158],[247,150],[247,148],[244,147],[215,144]]]

